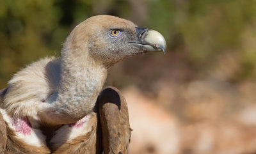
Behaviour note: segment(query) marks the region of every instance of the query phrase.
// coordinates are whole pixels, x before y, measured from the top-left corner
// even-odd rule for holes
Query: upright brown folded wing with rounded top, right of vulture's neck
[[[104,153],[129,153],[131,128],[124,96],[108,87],[100,93],[98,102]]]

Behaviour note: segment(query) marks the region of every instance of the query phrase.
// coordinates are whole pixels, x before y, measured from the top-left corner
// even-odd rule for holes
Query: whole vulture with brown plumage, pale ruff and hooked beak
[[[61,56],[26,66],[0,91],[0,153],[128,153],[124,96],[102,90],[122,59],[166,50],[157,31],[97,15],[77,25]]]

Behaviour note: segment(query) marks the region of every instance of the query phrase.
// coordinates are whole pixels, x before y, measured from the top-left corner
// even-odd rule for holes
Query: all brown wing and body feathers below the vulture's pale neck
[[[127,104],[122,93],[116,88],[104,89],[97,100],[95,112],[91,114],[92,118],[88,122],[92,126],[91,132],[67,141],[58,148],[52,147],[51,153],[128,153],[131,128]],[[100,121],[97,116],[100,116]],[[0,133],[0,150],[3,153],[50,153],[49,148],[45,146],[30,146],[17,138],[15,132],[5,125],[2,114]]]

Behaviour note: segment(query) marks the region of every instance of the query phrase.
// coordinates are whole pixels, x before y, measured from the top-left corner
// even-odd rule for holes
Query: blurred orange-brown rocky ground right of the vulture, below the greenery
[[[132,154],[256,153],[255,84],[198,80],[155,88],[152,96],[135,87],[123,90]]]

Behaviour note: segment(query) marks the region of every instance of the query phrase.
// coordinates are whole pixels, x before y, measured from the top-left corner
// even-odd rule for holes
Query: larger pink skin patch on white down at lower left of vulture
[[[31,126],[26,118],[12,118],[12,125],[17,132],[24,135],[31,134]]]

